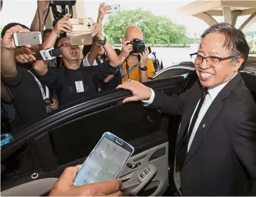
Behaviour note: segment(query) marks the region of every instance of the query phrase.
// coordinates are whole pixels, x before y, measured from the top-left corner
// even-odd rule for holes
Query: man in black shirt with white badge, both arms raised
[[[92,35],[96,35],[100,45],[104,47],[109,55],[109,62],[95,67],[81,67],[79,46],[70,45],[70,38],[61,34],[62,31],[72,31],[68,18],[69,15],[60,19],[43,43],[44,49],[54,46],[60,49],[65,67],[50,69],[43,60],[37,60],[33,64],[33,68],[41,76],[39,79],[57,94],[60,106],[100,92],[102,81],[111,74],[116,74],[120,64],[117,53],[110,43],[107,43],[101,34],[101,28],[95,23]]]

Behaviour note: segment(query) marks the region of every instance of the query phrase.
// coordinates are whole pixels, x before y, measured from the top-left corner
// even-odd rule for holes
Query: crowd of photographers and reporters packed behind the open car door
[[[81,51],[78,45],[70,44],[67,36],[73,31],[68,20],[70,14],[58,20],[53,29],[43,30],[44,23],[38,18],[44,18],[49,4],[49,1],[38,1],[39,11],[31,28],[9,23],[1,32],[1,102],[7,114],[11,113],[10,109],[15,113],[8,116],[14,118],[13,128],[36,123],[65,104],[115,89],[128,77],[145,82],[154,74],[149,51],[132,52],[134,38],[144,42],[142,30],[127,27],[122,50],[114,49],[102,34],[102,21],[111,6],[100,4],[97,23],[92,26],[92,45],[84,45]],[[14,33],[30,31],[41,31],[42,45],[16,47]],[[61,57],[48,61],[34,57],[33,54],[50,47],[59,49]]]

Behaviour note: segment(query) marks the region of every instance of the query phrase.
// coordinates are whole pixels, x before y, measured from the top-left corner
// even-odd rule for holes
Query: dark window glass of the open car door
[[[161,113],[141,103],[127,103],[72,120],[49,131],[58,164],[90,154],[103,133],[109,131],[126,140],[135,140],[159,130]]]

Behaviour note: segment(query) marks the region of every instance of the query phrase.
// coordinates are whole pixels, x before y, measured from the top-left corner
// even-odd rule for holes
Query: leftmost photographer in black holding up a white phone
[[[52,95],[47,91],[48,87],[36,79],[33,70],[27,69],[31,67],[30,64],[24,67],[24,64],[15,61],[14,55],[17,48],[14,44],[14,33],[30,31],[26,26],[17,24],[9,23],[1,32],[1,79],[6,85],[6,91],[18,115],[21,116],[16,118],[21,118],[22,123],[34,123],[45,118],[50,108],[58,108],[58,102],[53,99],[53,103],[48,103],[48,100],[52,100]],[[31,45],[20,47],[19,50],[31,51]],[[26,57],[28,60],[35,60],[31,54]],[[21,61],[27,63],[28,60]]]

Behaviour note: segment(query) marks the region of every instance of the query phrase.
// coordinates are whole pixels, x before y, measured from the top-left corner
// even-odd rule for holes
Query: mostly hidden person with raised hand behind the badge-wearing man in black
[[[99,24],[100,28],[102,29],[102,21],[105,17],[107,11],[110,11],[112,8],[111,6],[104,6],[105,3],[100,4],[99,13],[97,17],[97,23]],[[85,45],[84,48],[87,46]],[[92,46],[90,48],[90,52],[85,55],[85,59],[83,60],[83,66],[96,66],[103,62],[105,58],[102,58],[105,55],[105,50],[102,45],[97,43],[97,39],[93,39]],[[107,54],[108,56],[108,54]],[[102,60],[103,59],[103,60]]]

